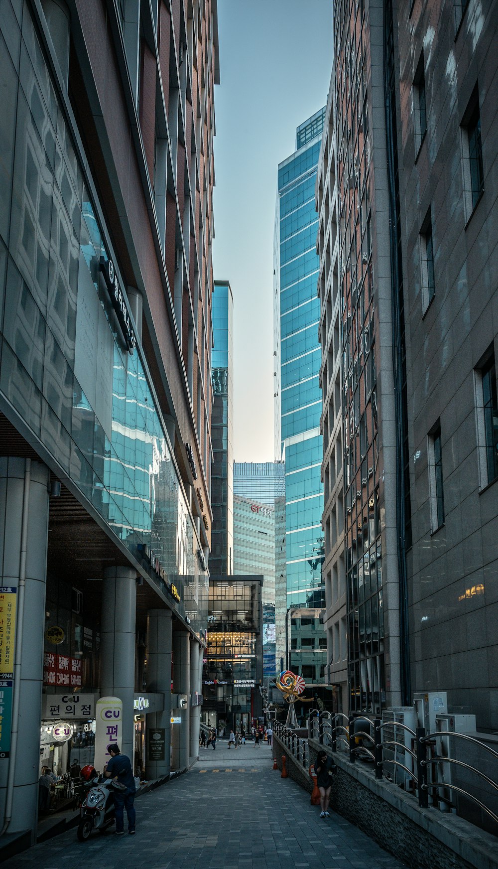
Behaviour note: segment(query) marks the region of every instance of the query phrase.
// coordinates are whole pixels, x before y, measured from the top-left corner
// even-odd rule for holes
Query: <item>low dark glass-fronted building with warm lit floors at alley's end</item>
[[[262,576],[211,576],[204,724],[229,731],[262,715]]]

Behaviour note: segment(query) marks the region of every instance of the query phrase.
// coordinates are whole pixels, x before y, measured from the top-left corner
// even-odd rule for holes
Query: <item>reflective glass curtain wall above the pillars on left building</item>
[[[8,7],[8,8],[7,8]],[[10,14],[9,14],[10,9]],[[103,279],[118,263],[24,4],[0,36],[0,406],[150,571],[196,633],[200,544],[141,348],[128,352]],[[121,282],[123,286],[123,282]],[[143,561],[144,569],[149,568]]]

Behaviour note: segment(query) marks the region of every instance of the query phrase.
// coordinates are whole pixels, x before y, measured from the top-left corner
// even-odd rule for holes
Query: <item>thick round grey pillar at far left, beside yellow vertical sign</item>
[[[42,720],[49,479],[49,468],[41,462],[0,458],[0,586],[17,589],[18,645],[15,652],[12,648],[17,687],[12,688],[11,696],[19,691],[17,715],[12,714],[10,759],[0,761],[0,829],[7,810],[8,832],[31,830],[33,837],[37,828]],[[20,579],[24,580],[21,585]],[[10,722],[4,719],[3,726],[9,727]],[[7,796],[9,777],[11,802]]]

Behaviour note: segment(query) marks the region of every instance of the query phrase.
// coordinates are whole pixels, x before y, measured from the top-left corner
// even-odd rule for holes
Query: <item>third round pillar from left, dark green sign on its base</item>
[[[164,694],[163,712],[149,713],[145,719],[145,772],[148,779],[169,774],[171,751],[171,625],[170,609],[149,609],[147,616],[147,691]],[[154,730],[163,730],[164,760],[151,758]],[[149,760],[150,759],[150,760]]]

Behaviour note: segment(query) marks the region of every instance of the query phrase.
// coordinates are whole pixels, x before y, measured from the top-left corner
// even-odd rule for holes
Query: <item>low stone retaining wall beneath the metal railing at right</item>
[[[313,783],[308,767],[322,748],[309,740],[306,769],[274,733],[273,756],[282,769],[282,754],[290,778],[309,793]],[[498,840],[468,821],[437,809],[422,809],[417,800],[361,762],[349,763],[342,753],[332,754],[339,772],[334,776],[330,807],[359,826],[386,851],[410,869],[498,869]]]

